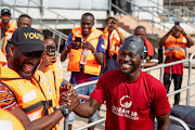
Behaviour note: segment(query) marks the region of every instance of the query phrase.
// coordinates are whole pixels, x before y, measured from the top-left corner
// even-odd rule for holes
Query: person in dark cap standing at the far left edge
[[[11,12],[9,9],[2,9],[1,10],[1,22],[0,22],[0,41],[4,37],[6,30],[9,28],[15,28],[16,24],[11,23]]]

